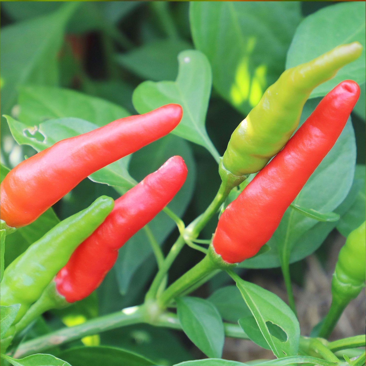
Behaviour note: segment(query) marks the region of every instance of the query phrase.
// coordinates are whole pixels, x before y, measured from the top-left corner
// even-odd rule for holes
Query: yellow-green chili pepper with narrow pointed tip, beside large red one
[[[231,135],[220,164],[221,178],[224,180],[227,172],[244,176],[261,170],[295,131],[311,91],[359,57],[361,51],[358,42],[341,45],[284,71]]]

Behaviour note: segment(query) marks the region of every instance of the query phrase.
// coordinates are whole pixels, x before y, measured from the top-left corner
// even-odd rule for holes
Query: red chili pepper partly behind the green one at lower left
[[[186,176],[183,159],[174,156],[118,198],[104,223],[57,274],[57,292],[70,303],[91,294],[112,268],[118,249],[172,200]]]

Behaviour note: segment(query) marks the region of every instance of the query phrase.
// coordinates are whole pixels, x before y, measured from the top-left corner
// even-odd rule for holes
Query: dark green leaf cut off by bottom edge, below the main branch
[[[72,366],[153,366],[155,363],[134,352],[116,347],[76,347],[63,351],[60,357]]]

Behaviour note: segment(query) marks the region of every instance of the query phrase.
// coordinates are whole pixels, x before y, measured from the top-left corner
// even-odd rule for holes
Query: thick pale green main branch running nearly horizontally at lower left
[[[81,339],[85,336],[139,323],[149,323],[149,319],[146,316],[146,309],[143,305],[123,309],[122,311],[117,311],[116,313],[88,320],[80,325],[56,330],[56,332],[24,342],[18,347],[14,357],[20,358],[22,356],[48,350],[49,348],[68,343],[76,339]],[[160,314],[157,320],[154,321],[154,325],[182,330],[182,326],[179,323],[177,315],[173,313]],[[224,329],[225,335],[228,337],[248,339],[248,336],[243,332],[239,325],[224,323]]]

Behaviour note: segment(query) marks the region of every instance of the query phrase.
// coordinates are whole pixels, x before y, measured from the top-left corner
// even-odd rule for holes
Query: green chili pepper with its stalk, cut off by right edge
[[[326,315],[319,337],[326,338],[337,324],[348,303],[365,287],[366,222],[348,235],[339,252],[332,279],[332,304]]]

